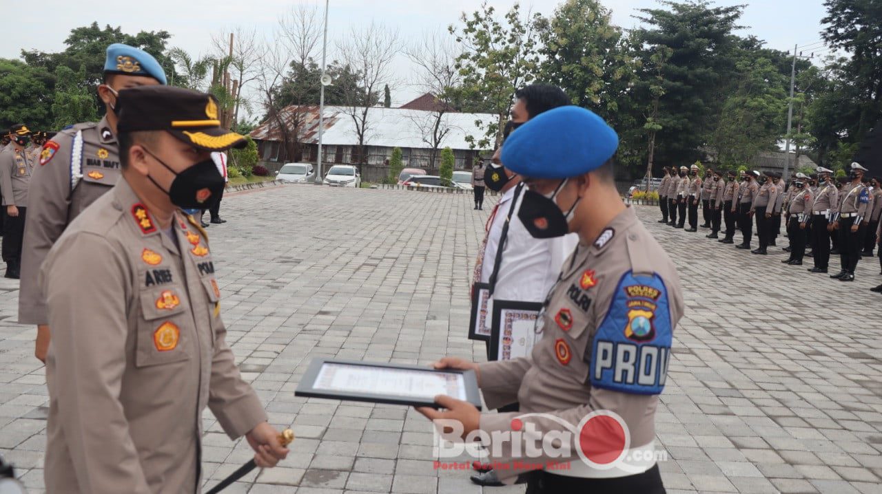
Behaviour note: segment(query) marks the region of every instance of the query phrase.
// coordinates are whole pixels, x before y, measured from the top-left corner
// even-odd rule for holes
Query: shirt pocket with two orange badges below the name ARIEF
[[[190,358],[191,318],[176,286],[141,291],[135,366],[171,364]]]

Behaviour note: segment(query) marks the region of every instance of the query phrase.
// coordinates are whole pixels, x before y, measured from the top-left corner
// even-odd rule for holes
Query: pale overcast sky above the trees
[[[658,5],[654,0],[601,0],[612,10],[613,22],[624,28],[635,26],[632,15],[637,9]],[[514,0],[491,0],[497,11],[507,11]],[[524,0],[525,9],[543,14],[554,11],[560,0]],[[716,4],[744,4],[745,0],[719,0]],[[109,0],[43,0],[39,8],[15,2],[20,17],[5,22],[0,29],[0,56],[18,58],[21,48],[41,51],[64,49],[64,39],[71,28],[93,21],[104,26],[121,26],[124,33],[166,30],[172,34],[169,47],[189,53],[206,54],[211,48],[212,33],[234,26],[253,26],[261,36],[272,39],[281,13],[295,4],[317,4],[309,0],[147,0],[111,2]],[[331,0],[328,19],[328,47],[345,36],[352,26],[363,26],[370,19],[395,26],[404,40],[415,40],[422,33],[443,29],[459,21],[460,12],[475,11],[480,0]],[[0,0],[3,11],[11,13],[11,0]],[[324,2],[318,3],[321,9]],[[792,50],[794,44],[807,46],[820,41],[820,19],[826,11],[823,0],[754,0],[744,9],[741,24],[749,26],[741,34],[753,34],[770,48]],[[820,45],[814,45],[820,46]],[[813,47],[807,48],[806,51]],[[820,47],[823,48],[823,47]],[[329,53],[329,60],[333,53]],[[410,64],[400,56],[394,69],[398,78],[411,79]],[[393,103],[401,104],[418,95],[415,88],[400,86],[392,90]]]

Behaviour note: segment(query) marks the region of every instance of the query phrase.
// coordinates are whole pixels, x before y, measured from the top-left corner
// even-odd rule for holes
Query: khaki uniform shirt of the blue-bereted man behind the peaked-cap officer
[[[82,178],[71,181],[71,152],[82,136]],[[19,323],[47,324],[46,301],[37,287],[37,273],[49,249],[86,206],[104,195],[119,179],[116,136],[107,118],[78,123],[59,132],[41,151],[27,203],[25,240],[21,257]]]

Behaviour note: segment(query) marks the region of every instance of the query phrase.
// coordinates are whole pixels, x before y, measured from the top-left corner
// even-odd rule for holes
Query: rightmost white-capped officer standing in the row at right
[[[841,271],[832,278],[838,278],[839,281],[855,281],[855,269],[857,261],[860,259],[862,246],[863,218],[868,214],[868,204],[870,203],[870,190],[863,187],[861,179],[863,173],[867,169],[859,163],[851,164],[851,172],[848,174],[851,178],[844,189],[845,197],[842,199],[842,206],[833,222],[833,229],[839,230],[839,249],[840,249],[840,266]]]

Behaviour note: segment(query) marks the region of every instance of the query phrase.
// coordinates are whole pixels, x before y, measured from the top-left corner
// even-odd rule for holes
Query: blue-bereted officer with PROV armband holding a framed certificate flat
[[[603,439],[609,439],[604,431],[583,429],[581,435],[570,434],[569,457],[552,459],[543,452],[529,459],[569,462],[569,468],[534,471],[527,492],[664,492],[658,465],[648,459],[654,457],[655,409],[684,302],[673,262],[618,195],[612,163],[617,143],[613,129],[579,107],[550,110],[509,136],[502,161],[530,188],[520,221],[537,237],[575,232],[579,246],[549,292],[538,327],[543,336],[530,358],[480,365],[443,358],[435,364],[475,370],[490,408],[519,401],[520,412],[482,414],[445,395],[436,397],[445,410],[418,409],[432,420],[459,421],[464,437],[478,429],[492,435],[527,428],[543,438],[549,433],[560,437],[569,431],[565,424],[575,427],[595,410],[615,413],[627,425],[630,448],[624,461],[609,469],[581,461],[580,445],[610,453],[603,446]],[[583,289],[585,276],[594,283]],[[572,287],[593,303],[587,308],[574,303],[568,294]],[[639,372],[616,371],[627,366],[625,360],[644,354],[656,357],[643,360],[647,365]],[[521,443],[489,446],[491,459],[502,464],[521,461],[514,452],[526,451]],[[644,461],[636,461],[638,456]],[[518,468],[498,470],[506,483],[519,473]]]

